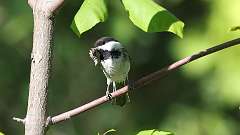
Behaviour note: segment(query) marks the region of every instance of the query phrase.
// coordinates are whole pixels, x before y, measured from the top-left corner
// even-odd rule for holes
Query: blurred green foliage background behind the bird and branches
[[[240,22],[240,1],[158,0],[186,24],[184,39],[170,33],[145,33],[132,25],[120,1],[110,2],[108,20],[80,39],[69,28],[83,1],[65,1],[56,18],[55,46],[48,108],[53,116],[104,95],[106,80],[88,50],[101,36],[120,40],[132,57],[130,79],[137,79],[212,45],[239,37],[229,32]],[[0,3],[0,129],[23,134],[12,120],[27,108],[32,11],[27,1]],[[49,135],[93,135],[116,129],[134,135],[144,129],[175,135],[239,135],[240,47],[190,63],[162,80],[131,93],[123,108],[101,105],[64,123]]]

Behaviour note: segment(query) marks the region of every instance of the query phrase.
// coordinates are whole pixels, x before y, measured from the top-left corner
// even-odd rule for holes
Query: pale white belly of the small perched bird
[[[101,62],[105,69],[105,76],[112,81],[123,82],[128,77],[130,70],[129,60],[123,59],[107,59]]]

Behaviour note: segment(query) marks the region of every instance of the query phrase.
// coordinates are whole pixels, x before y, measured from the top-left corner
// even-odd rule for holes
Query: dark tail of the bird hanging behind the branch
[[[125,82],[116,83],[116,90],[120,89],[124,86],[125,86]],[[126,94],[123,94],[121,96],[114,98],[112,103],[115,105],[124,106],[125,104],[127,104],[129,102],[130,102],[130,97],[129,97],[128,93],[126,93]]]

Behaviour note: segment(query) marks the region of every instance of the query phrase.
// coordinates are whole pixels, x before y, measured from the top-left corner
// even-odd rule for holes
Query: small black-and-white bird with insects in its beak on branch
[[[95,66],[99,65],[107,78],[106,96],[111,99],[111,92],[122,88],[128,83],[130,57],[124,46],[113,37],[101,37],[94,48],[89,50]],[[112,84],[112,90],[110,90]],[[112,103],[124,106],[130,102],[128,93],[113,99]]]

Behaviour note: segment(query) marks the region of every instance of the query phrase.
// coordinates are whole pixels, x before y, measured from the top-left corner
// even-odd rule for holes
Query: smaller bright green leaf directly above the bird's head
[[[106,0],[85,0],[75,15],[71,28],[80,36],[99,22],[107,19]]]

